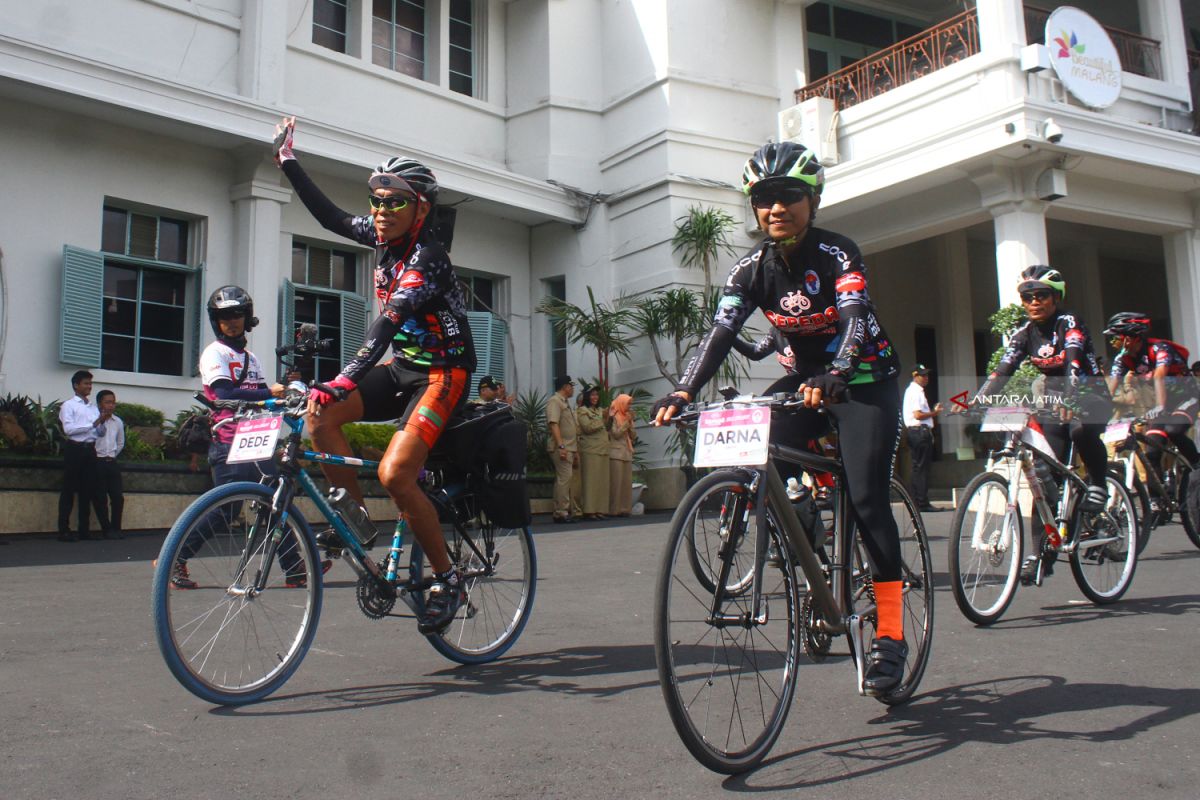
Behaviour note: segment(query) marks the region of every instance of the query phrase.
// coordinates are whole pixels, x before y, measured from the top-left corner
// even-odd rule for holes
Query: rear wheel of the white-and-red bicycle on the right
[[[1099,537],[1116,541],[1104,545],[1090,545],[1088,539],[1080,539],[1070,553],[1070,571],[1084,596],[1097,606],[1108,606],[1121,600],[1133,583],[1138,569],[1138,521],[1133,498],[1124,483],[1118,479],[1106,476],[1109,501],[1105,506],[1108,517],[1115,522],[1114,529],[1096,531]],[[1079,512],[1072,515],[1074,525],[1081,524]],[[1076,536],[1084,535],[1076,533]]]

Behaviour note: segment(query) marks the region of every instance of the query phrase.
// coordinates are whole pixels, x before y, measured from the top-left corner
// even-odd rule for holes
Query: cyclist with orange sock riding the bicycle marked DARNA
[[[761,308],[796,359],[792,374],[767,391],[799,391],[811,409],[775,423],[774,434],[797,446],[820,438],[828,421],[816,409],[827,403],[839,422],[846,489],[864,531],[878,608],[863,686],[886,694],[900,681],[907,657],[900,534],[889,503],[900,427],[899,361],[866,293],[858,246],[812,227],[823,184],[823,168],[800,144],[768,143],[746,162],[742,188],[767,237],[730,271],[713,327],[676,391],[655,405],[655,425],[696,397]]]

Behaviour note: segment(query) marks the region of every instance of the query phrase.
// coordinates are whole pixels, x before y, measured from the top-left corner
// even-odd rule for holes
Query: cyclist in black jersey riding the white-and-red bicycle
[[[988,395],[998,393],[1025,359],[1048,378],[1048,389],[1063,398],[1062,422],[1042,422],[1042,432],[1060,461],[1067,457],[1068,440],[1074,443],[1084,467],[1087,468],[1087,492],[1080,510],[1099,511],[1108,503],[1108,451],[1102,437],[1112,413],[1111,398],[1104,385],[1096,348],[1082,320],[1062,308],[1067,282],[1058,270],[1044,264],[1026,267],[1016,284],[1028,321],[1008,339],[1000,363],[974,397],[985,402]],[[1040,553],[1039,525],[1033,525],[1034,553]],[[1022,565],[1022,578],[1032,576],[1038,555],[1030,555]],[[1051,565],[1048,563],[1049,571]]]

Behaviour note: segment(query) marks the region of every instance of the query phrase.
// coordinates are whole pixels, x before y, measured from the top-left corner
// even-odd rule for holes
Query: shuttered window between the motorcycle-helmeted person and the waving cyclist
[[[301,325],[313,325],[318,339],[332,347],[312,363],[301,363],[300,378],[332,380],[366,338],[367,301],[362,254],[320,242],[292,240],[292,279],[284,281],[280,302],[280,343],[295,342]]]

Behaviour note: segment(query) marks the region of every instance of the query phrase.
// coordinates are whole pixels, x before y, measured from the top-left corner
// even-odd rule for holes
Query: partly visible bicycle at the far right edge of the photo
[[[1145,519],[1142,535],[1138,540],[1138,554],[1150,542],[1151,531],[1169,524],[1176,513],[1180,515],[1183,533],[1193,545],[1200,547],[1200,481],[1192,481],[1195,468],[1169,438],[1159,437],[1160,444],[1151,443],[1140,429],[1144,423],[1141,417],[1114,420],[1105,431],[1105,439],[1116,445],[1116,458],[1111,467],[1121,474],[1129,493],[1138,498]],[[1147,457],[1147,447],[1165,453],[1160,462],[1164,464],[1162,470]],[[1142,475],[1146,476],[1145,480]]]

